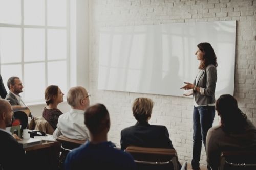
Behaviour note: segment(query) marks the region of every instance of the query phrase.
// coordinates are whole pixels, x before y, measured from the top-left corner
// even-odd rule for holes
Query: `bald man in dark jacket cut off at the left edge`
[[[12,107],[7,100],[0,99],[0,165],[3,169],[28,169],[26,155],[22,146],[6,131],[12,122]]]

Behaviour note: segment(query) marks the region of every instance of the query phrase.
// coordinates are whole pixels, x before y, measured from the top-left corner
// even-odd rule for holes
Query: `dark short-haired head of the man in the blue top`
[[[110,128],[109,111],[103,104],[98,103],[90,106],[84,113],[84,124],[93,135],[97,135],[104,130],[108,132]]]

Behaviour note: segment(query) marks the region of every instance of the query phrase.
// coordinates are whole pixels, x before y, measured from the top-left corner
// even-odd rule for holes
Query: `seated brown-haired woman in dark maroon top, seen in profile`
[[[61,114],[63,114],[57,106],[59,103],[63,102],[63,93],[60,88],[55,85],[50,85],[45,90],[45,99],[47,107],[45,107],[42,112],[42,117],[44,117],[47,122],[55,130],[57,128],[58,118]]]

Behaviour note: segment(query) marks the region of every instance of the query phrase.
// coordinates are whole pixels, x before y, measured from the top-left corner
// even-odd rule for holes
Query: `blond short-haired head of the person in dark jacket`
[[[133,102],[133,116],[138,122],[145,122],[151,117],[153,106],[151,99],[137,98]]]

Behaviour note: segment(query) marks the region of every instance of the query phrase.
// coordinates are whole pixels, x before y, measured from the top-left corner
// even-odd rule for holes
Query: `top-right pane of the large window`
[[[66,26],[67,9],[66,1],[51,0],[47,1],[47,25]]]

